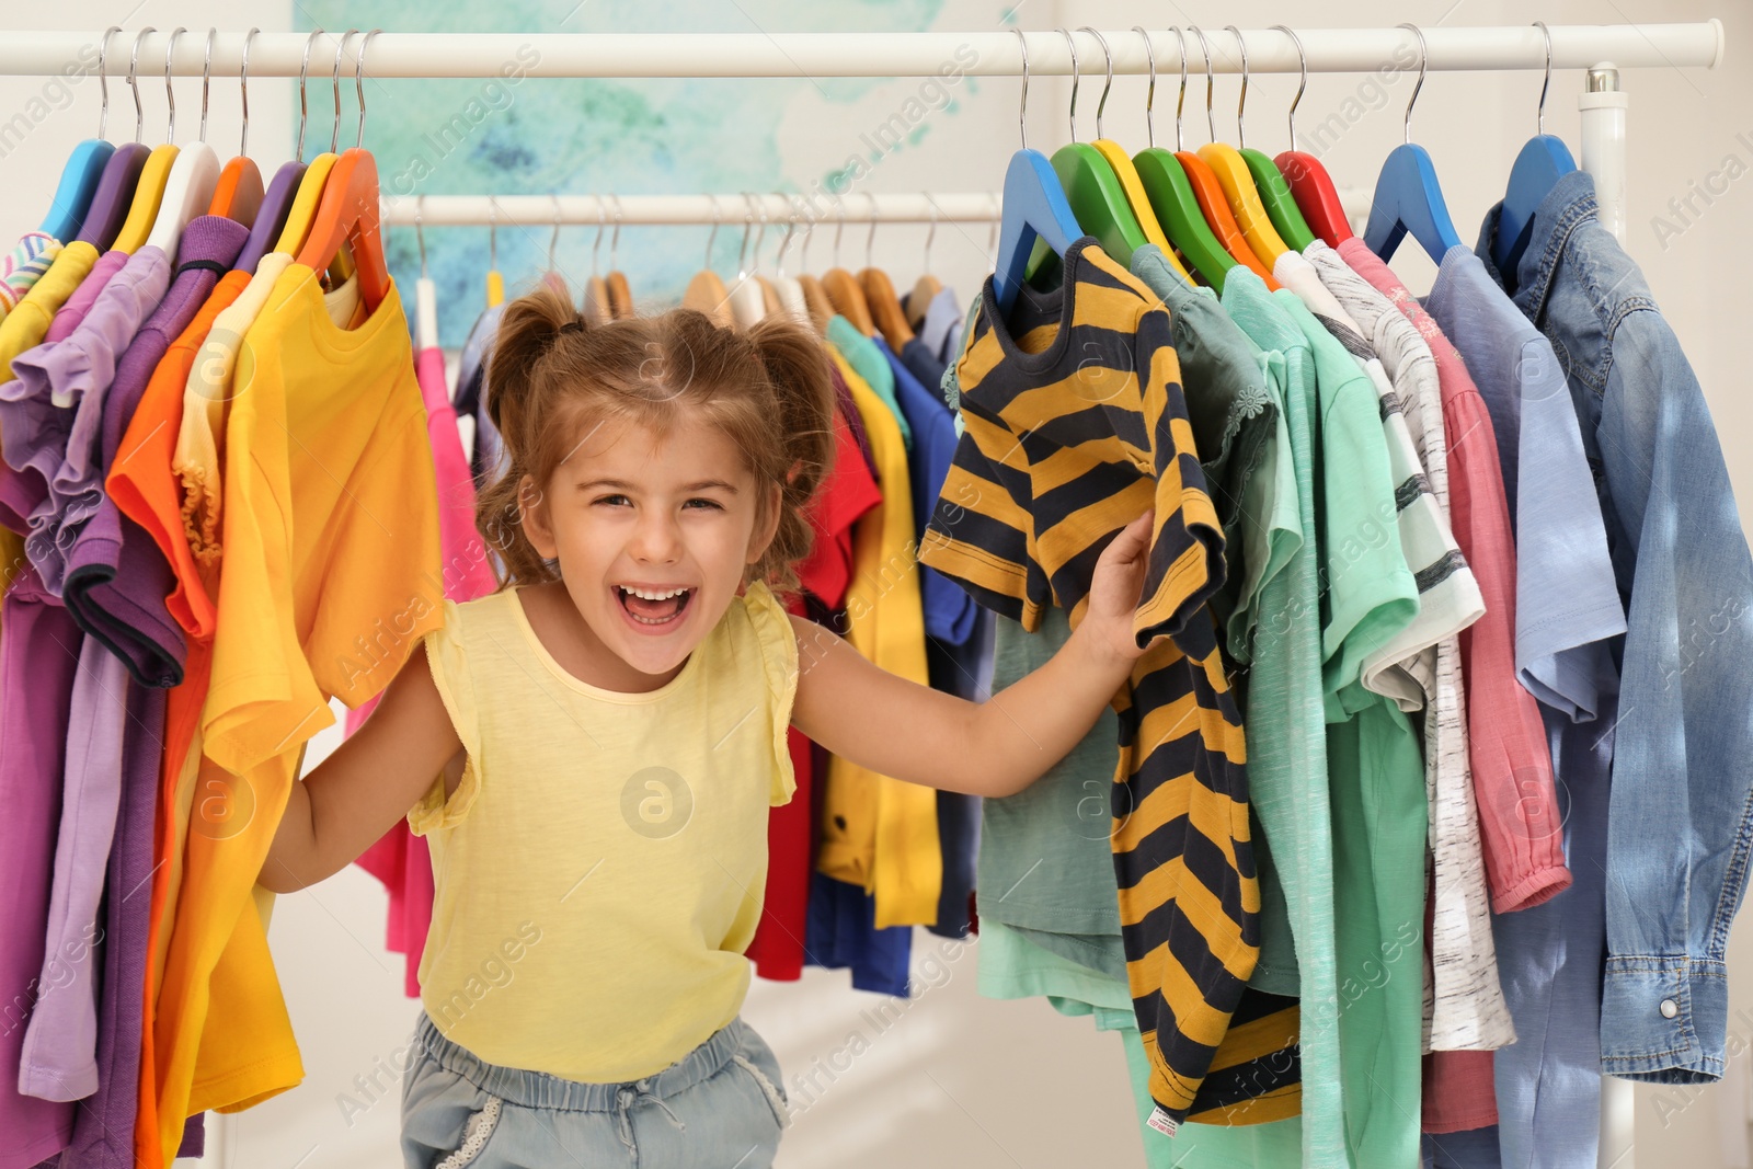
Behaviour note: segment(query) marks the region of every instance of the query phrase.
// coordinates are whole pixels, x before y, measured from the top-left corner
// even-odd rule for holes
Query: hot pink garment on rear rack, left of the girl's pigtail
[[[475,529],[475,478],[463,452],[463,433],[444,379],[444,351],[422,349],[414,359],[414,373],[426,401],[426,435],[433,447],[433,475],[438,485],[438,549],[444,556],[444,594],[451,601],[472,601],[498,587],[487,547]],[[359,729],[377,706],[372,699],[347,712],[347,734]],[[421,953],[433,917],[431,854],[422,836],[398,822],[365,850],[359,868],[384,882],[389,890],[389,924],[384,945],[407,955],[405,988],[419,997]]]

